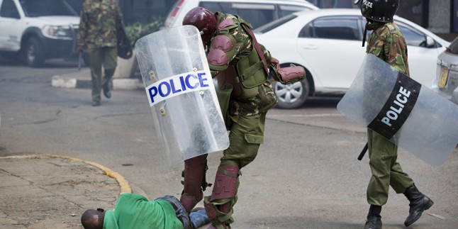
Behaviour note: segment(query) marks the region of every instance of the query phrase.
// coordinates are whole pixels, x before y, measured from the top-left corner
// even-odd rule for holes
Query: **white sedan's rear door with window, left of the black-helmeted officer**
[[[324,16],[303,27],[298,50],[308,63],[317,91],[346,91],[364,58],[358,16]]]

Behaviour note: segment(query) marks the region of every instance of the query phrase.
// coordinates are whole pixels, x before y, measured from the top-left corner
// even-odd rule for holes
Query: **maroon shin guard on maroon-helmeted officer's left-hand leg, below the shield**
[[[211,184],[206,183],[205,174],[207,170],[206,155],[200,155],[184,161],[183,192],[179,201],[190,213],[192,208],[203,199],[203,191]]]

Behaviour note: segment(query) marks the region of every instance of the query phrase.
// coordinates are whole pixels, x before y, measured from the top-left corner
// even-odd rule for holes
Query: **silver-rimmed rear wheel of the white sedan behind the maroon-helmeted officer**
[[[279,100],[277,107],[285,109],[300,107],[307,100],[309,87],[307,79],[287,85],[274,82],[274,92]]]

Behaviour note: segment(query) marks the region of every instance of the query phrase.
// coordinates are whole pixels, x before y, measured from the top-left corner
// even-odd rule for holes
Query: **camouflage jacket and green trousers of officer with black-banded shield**
[[[367,30],[374,30],[368,41],[367,53],[376,55],[399,72],[408,75],[406,40],[398,26],[394,23],[374,22],[367,26]],[[370,129],[367,129],[367,143],[372,171],[367,187],[367,202],[383,206],[388,200],[390,185],[396,193],[401,194],[413,185],[413,181],[396,161],[397,145]]]

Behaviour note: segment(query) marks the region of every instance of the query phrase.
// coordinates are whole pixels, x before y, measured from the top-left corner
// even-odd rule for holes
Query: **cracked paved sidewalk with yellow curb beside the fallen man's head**
[[[0,157],[0,228],[79,228],[89,208],[132,192],[118,173],[72,157]]]

